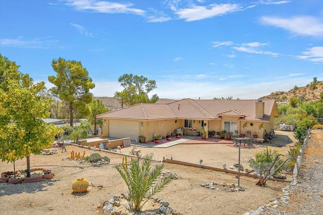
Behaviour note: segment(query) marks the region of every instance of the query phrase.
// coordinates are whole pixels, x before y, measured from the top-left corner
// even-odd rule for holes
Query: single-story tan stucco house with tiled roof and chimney
[[[103,119],[104,137],[138,141],[138,136],[153,139],[155,134],[166,136],[181,128],[203,126],[205,131],[246,133],[257,132],[262,138],[265,130],[274,129],[278,117],[275,100],[161,100],[153,104],[140,103],[97,115]],[[197,132],[200,133],[200,132]]]

